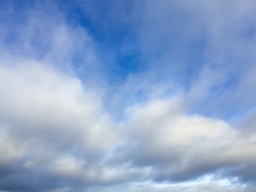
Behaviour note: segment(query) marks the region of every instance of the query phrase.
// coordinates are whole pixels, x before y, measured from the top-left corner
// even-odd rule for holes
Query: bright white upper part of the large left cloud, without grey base
[[[35,62],[1,66],[0,92],[1,121],[23,139],[63,150],[78,143],[89,157],[98,157],[117,138],[97,93],[85,90],[78,78]]]

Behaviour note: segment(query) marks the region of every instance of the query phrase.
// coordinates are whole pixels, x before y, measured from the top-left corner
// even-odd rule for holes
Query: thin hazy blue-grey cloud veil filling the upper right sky
[[[161,82],[173,92],[193,93],[188,100],[194,97],[195,113],[219,118],[254,105],[254,80],[246,81],[254,71],[254,2],[141,1],[134,6],[148,69],[138,74],[138,85],[146,78],[150,85]]]

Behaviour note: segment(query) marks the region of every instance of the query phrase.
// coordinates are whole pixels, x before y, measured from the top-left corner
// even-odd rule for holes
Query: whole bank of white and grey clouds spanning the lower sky
[[[213,172],[254,181],[254,131],[246,135],[220,119],[189,115],[181,96],[134,103],[120,124],[74,76],[22,60],[0,69],[1,163],[8,162],[2,170],[26,179],[39,173],[50,185],[42,190],[183,182]],[[10,178],[17,189],[34,189]],[[16,189],[6,183],[2,189]]]

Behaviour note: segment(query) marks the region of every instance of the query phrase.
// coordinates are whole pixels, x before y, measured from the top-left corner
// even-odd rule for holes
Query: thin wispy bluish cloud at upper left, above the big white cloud
[[[82,76],[87,84],[90,78],[99,78],[97,43],[85,28],[66,20],[57,2],[10,2],[3,7],[2,58],[44,62]]]

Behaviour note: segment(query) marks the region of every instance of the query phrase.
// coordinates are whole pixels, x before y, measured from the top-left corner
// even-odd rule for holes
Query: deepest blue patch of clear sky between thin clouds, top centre
[[[121,4],[122,6],[122,4]],[[97,8],[97,13],[94,9]],[[130,30],[128,21],[123,21],[119,14],[126,14],[126,6],[114,3],[87,2],[77,6],[70,2],[60,5],[66,11],[66,21],[70,26],[83,27],[96,42],[104,59],[102,69],[108,74],[109,82],[117,83],[126,76],[136,73],[142,62],[138,44]],[[121,9],[118,11],[118,9]],[[79,58],[74,58],[74,66],[79,65]]]

